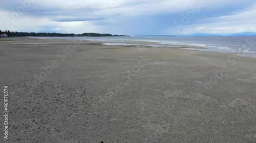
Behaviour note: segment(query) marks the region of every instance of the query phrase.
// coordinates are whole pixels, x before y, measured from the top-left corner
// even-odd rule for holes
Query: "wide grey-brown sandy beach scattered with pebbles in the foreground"
[[[7,142],[256,142],[254,58],[189,46],[1,40]]]

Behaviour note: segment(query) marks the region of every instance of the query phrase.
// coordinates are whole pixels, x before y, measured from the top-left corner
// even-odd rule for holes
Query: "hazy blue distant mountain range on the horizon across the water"
[[[141,35],[143,37],[220,37],[220,36],[256,36],[253,32],[243,32],[236,34],[210,34],[210,33],[194,33],[190,35]]]

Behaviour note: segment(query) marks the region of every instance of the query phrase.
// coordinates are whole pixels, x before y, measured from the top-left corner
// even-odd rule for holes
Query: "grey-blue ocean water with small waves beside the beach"
[[[148,46],[168,46],[177,47],[179,45],[193,45],[206,49],[196,49],[204,51],[237,53],[241,56],[256,58],[256,37],[33,37],[47,40],[93,40],[114,42],[111,45],[131,45],[123,44],[125,41],[150,41],[160,44],[150,44]],[[119,42],[119,43],[118,43]],[[135,44],[137,46],[147,46],[146,44]],[[192,49],[191,49],[192,50]],[[193,49],[195,50],[195,49]]]

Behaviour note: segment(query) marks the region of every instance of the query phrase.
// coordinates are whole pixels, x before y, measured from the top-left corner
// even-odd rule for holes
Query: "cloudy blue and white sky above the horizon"
[[[2,0],[0,29],[124,35],[256,32],[255,0]]]

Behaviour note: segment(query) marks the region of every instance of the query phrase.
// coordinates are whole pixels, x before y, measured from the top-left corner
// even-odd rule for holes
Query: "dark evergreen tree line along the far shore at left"
[[[112,34],[99,34],[99,33],[83,33],[83,34],[74,34],[74,33],[35,33],[35,32],[10,32],[10,31],[1,31],[1,34],[7,34],[8,37],[26,37],[26,36],[33,36],[33,37],[111,37],[111,36],[126,36],[126,35],[112,35]],[[127,36],[129,37],[129,36]]]

